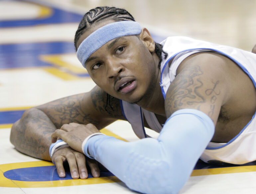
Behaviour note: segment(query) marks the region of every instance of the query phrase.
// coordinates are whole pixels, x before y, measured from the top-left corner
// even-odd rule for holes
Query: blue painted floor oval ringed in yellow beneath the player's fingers
[[[55,181],[72,179],[70,171],[66,171],[66,176],[60,178],[56,166],[40,166],[29,168],[18,168],[4,172],[4,176],[10,180],[18,181]],[[111,172],[100,172],[100,177],[114,176]],[[88,173],[88,178],[93,176]]]

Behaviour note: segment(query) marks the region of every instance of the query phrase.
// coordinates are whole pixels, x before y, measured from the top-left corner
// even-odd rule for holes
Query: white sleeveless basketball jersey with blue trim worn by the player
[[[168,58],[161,63],[161,82],[163,96],[176,76],[176,70],[180,63],[188,56],[205,51],[215,51],[222,54],[244,70],[256,87],[256,54],[238,48],[216,45],[205,41],[194,40],[188,37],[169,37],[161,43],[163,50],[168,53]],[[172,60],[170,64],[169,61]],[[120,101],[123,115],[132,125],[133,131],[139,138],[148,137],[143,125],[143,115],[150,128],[160,132],[159,124],[154,113],[140,108],[138,105]],[[210,142],[200,159],[205,162],[227,162],[244,164],[256,160],[256,118],[253,115],[251,121],[241,132],[227,143]]]

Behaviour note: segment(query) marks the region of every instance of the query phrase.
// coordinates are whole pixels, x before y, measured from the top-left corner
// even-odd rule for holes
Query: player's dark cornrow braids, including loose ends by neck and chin
[[[86,14],[84,14],[81,22],[79,23],[78,29],[75,33],[74,45],[75,50],[77,51],[77,41],[80,36],[94,23],[101,22],[102,20],[113,20],[115,22],[118,21],[135,21],[133,16],[126,11],[125,9],[120,9],[116,7],[96,7],[95,9],[91,9]],[[164,53],[164,59],[167,58],[167,53],[163,51],[163,46],[159,43],[155,42],[155,53],[159,57],[159,64],[162,62],[162,53]],[[111,109],[114,111],[114,108],[110,104],[110,100],[113,97],[107,94],[107,102],[105,106],[105,110],[107,111],[107,105],[109,104]],[[109,111],[107,111],[109,112]]]

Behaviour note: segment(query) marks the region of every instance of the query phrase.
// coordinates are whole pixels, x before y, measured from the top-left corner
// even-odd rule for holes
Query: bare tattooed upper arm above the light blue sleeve
[[[214,53],[194,54],[185,59],[166,93],[167,117],[179,109],[190,108],[204,112],[216,124],[220,108],[229,98],[228,60]]]

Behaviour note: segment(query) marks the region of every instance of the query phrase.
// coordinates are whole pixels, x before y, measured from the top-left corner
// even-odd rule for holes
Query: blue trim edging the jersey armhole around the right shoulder
[[[253,79],[253,77],[251,76],[251,74],[248,72],[248,70],[247,70],[240,62],[238,62],[237,60],[235,60],[234,58],[232,58],[232,57],[229,56],[228,54],[226,54],[226,53],[224,53],[224,52],[222,52],[222,51],[213,49],[213,48],[192,48],[192,49],[187,49],[187,50],[180,51],[180,52],[178,52],[178,53],[172,55],[172,56],[166,61],[166,63],[164,64],[163,70],[162,70],[162,72],[161,72],[161,77],[160,77],[160,86],[161,86],[161,84],[162,84],[162,76],[163,76],[164,69],[165,69],[166,65],[168,64],[168,62],[169,62],[172,58],[174,58],[177,54],[180,54],[180,53],[182,53],[182,52],[186,52],[186,51],[190,51],[190,50],[202,50],[202,49],[203,49],[203,50],[212,50],[212,51],[215,51],[215,52],[217,52],[217,53],[220,53],[220,54],[222,54],[222,55],[228,57],[228,58],[231,59],[232,61],[234,61],[234,62],[235,62],[239,67],[241,67],[242,70],[250,77],[250,79],[251,79],[252,82],[253,82],[254,87],[256,88],[256,82],[255,82],[255,80]],[[165,93],[164,88],[163,88],[162,86],[161,86],[161,90],[162,90],[162,94],[163,94],[164,99],[165,99],[166,93]],[[230,140],[228,143],[226,143],[225,145],[218,146],[218,147],[206,147],[205,149],[219,149],[219,148],[222,148],[222,147],[225,147],[225,146],[231,144],[238,136],[241,135],[241,133],[243,133],[243,131],[246,129],[246,127],[252,122],[252,120],[254,119],[255,115],[256,115],[256,112],[255,112],[254,115],[252,116],[251,121],[250,121],[249,123],[247,123],[247,125],[240,131],[240,133],[237,134],[237,135],[236,135],[232,140]]]

